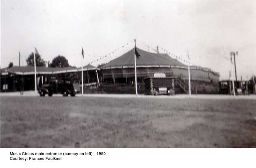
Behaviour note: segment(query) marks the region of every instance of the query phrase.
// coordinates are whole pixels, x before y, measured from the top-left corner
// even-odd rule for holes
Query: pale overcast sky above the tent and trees
[[[107,55],[97,66],[136,38],[141,49],[159,45],[183,60],[188,50],[192,64],[221,79],[229,76],[230,51],[238,51],[238,79],[256,74],[255,0],[1,0],[0,11],[1,68],[18,65],[19,51],[25,66],[34,47],[44,60],[64,55],[72,66],[81,66],[82,47],[83,65]]]

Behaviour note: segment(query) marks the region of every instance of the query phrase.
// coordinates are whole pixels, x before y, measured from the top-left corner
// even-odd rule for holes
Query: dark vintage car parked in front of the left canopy
[[[63,79],[52,79],[48,84],[42,85],[38,92],[40,96],[45,96],[45,94],[48,94],[48,96],[52,96],[52,94],[76,96],[79,90],[78,83],[72,83]]]

